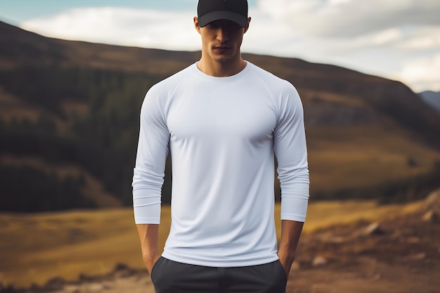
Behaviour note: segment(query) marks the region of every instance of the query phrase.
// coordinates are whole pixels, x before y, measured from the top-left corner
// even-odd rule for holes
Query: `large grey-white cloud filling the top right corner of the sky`
[[[321,37],[351,38],[408,25],[440,25],[438,0],[259,0],[273,18]]]

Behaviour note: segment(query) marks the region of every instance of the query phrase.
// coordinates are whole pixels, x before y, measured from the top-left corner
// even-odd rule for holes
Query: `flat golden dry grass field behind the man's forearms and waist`
[[[380,221],[411,214],[423,202],[377,206],[373,201],[311,202],[304,234],[357,221]],[[276,219],[279,214],[276,206]],[[169,230],[169,207],[162,209],[160,245]],[[277,228],[280,221],[276,222]],[[0,282],[15,287],[43,285],[53,277],[77,280],[104,275],[124,263],[143,268],[131,209],[0,214]]]

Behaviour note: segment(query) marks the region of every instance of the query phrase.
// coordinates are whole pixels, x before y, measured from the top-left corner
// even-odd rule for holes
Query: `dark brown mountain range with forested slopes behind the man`
[[[243,57],[302,97],[312,199],[411,200],[438,184],[440,115],[408,86],[297,58]],[[143,96],[198,58],[0,22],[0,210],[131,205]],[[168,162],[164,202],[170,177]]]

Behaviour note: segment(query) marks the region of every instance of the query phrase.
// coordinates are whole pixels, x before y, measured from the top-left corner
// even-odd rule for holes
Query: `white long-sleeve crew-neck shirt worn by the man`
[[[193,64],[155,84],[141,108],[136,223],[160,223],[170,151],[172,226],[162,256],[216,267],[276,261],[273,154],[281,219],[304,221],[303,120],[295,87],[252,63],[231,77],[211,77]]]

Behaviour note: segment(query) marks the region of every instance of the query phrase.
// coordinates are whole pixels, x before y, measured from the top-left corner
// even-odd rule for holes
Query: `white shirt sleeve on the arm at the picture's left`
[[[136,224],[160,223],[162,185],[169,144],[163,100],[153,86],[145,95],[141,107],[132,182]]]

